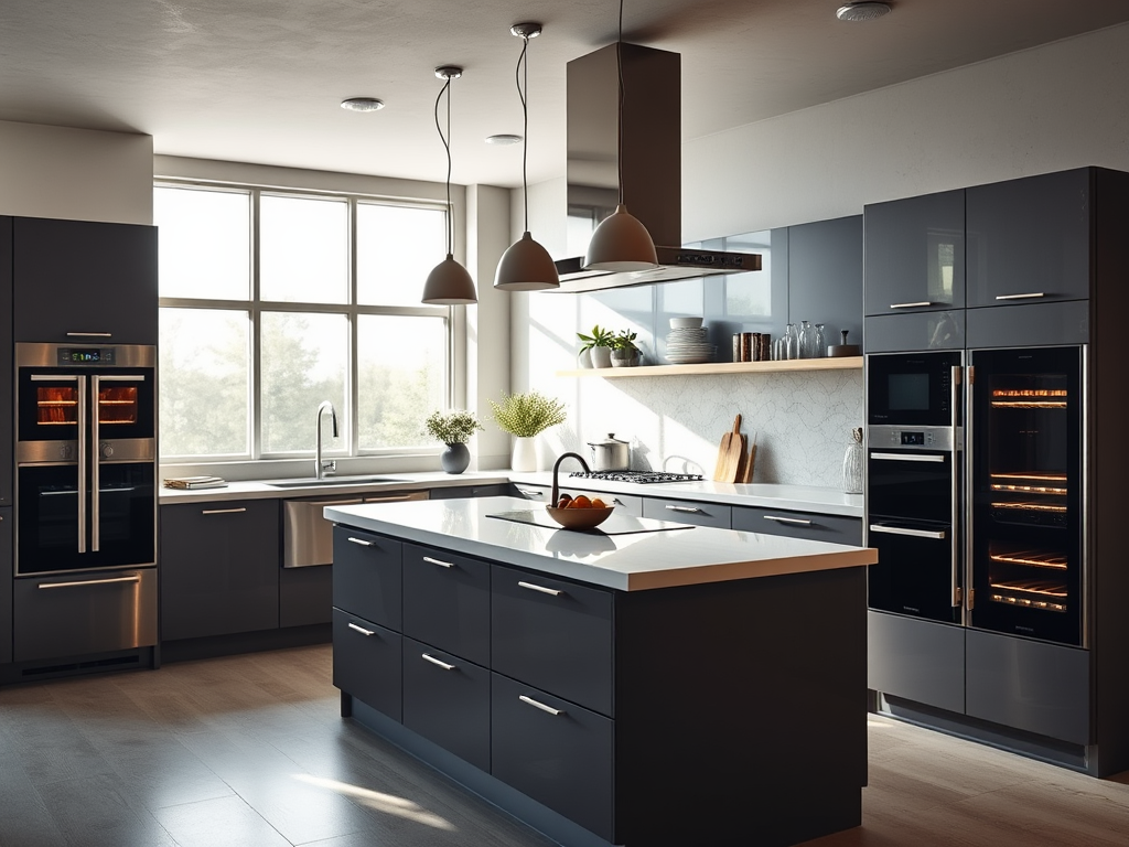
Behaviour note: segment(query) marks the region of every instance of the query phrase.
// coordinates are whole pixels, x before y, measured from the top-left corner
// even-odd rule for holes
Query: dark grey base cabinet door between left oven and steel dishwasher
[[[279,625],[278,500],[160,507],[161,638]]]

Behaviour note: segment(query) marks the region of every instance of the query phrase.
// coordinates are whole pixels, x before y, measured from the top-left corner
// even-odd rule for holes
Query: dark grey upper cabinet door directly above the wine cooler
[[[965,192],[969,307],[1089,297],[1089,185],[1079,168]]]

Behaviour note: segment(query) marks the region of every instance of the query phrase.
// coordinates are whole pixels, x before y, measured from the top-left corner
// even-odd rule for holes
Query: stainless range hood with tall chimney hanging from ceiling
[[[692,250],[682,244],[682,59],[638,44],[609,44],[568,63],[569,230],[594,226],[619,199],[616,140],[623,66],[623,199],[647,227],[659,267],[585,271],[584,256],[557,262],[560,291],[595,291],[717,273],[759,271],[756,253]]]

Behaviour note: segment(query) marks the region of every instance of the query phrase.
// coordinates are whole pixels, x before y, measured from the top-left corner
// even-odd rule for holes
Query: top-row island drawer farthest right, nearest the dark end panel
[[[490,666],[612,715],[612,594],[492,565]]]

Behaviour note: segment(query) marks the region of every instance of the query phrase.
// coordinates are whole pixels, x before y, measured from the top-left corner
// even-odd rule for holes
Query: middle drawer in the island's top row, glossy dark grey
[[[456,656],[490,663],[490,566],[404,544],[405,636]]]

